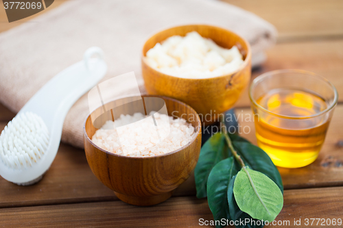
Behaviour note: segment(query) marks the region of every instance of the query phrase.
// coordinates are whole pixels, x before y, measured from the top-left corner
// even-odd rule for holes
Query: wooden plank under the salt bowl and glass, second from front
[[[254,123],[241,121],[251,114],[250,109],[236,110],[241,128],[248,126],[249,134],[242,134],[256,143]],[[285,189],[343,186],[343,105],[336,107],[324,147],[313,164],[304,168],[279,168]],[[2,129],[7,123],[0,123]],[[174,196],[196,194],[192,175],[174,192]],[[48,205],[117,200],[111,190],[100,183],[88,167],[82,149],[60,144],[56,159],[42,181],[34,186],[16,186],[0,177],[0,207]]]

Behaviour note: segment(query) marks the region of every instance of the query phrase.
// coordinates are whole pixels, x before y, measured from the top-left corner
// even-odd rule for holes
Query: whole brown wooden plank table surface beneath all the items
[[[274,69],[300,68],[327,77],[343,94],[342,0],[226,2],[254,12],[279,30],[277,45],[267,51],[268,60],[253,71],[252,78]],[[48,10],[61,3],[56,0]],[[33,17],[8,23],[0,7],[0,32]],[[342,101],[343,96],[318,160],[304,168],[279,168],[285,204],[276,220],[289,220],[287,227],[294,227],[294,219],[300,218],[343,219]],[[237,103],[236,113],[251,114],[247,92]],[[0,104],[0,129],[13,117]],[[256,142],[253,123],[239,123],[251,127],[244,137]],[[199,218],[213,220],[213,216],[206,199],[196,199],[195,192],[191,177],[165,203],[128,205],[96,179],[82,149],[61,143],[56,160],[36,185],[16,186],[0,177],[0,227],[199,227]]]

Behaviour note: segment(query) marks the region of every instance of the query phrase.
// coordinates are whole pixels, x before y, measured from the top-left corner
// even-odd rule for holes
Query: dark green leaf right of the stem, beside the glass
[[[270,160],[267,153],[261,148],[250,144],[250,142],[233,141],[233,147],[236,149],[237,153],[241,155],[241,159],[246,166],[267,175],[267,177],[272,179],[272,181],[279,186],[281,192],[283,192],[283,183],[279,170],[272,160]]]

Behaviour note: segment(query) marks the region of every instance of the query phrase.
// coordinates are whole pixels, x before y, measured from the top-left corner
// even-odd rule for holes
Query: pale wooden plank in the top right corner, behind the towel
[[[279,41],[343,36],[341,0],[224,0],[261,16],[279,31]]]

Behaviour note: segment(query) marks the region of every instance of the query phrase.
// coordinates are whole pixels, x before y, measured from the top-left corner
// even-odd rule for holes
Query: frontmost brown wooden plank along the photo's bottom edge
[[[305,219],[342,219],[342,191],[343,187],[286,190],[276,221],[289,220],[289,225],[268,227],[296,227],[294,219],[301,220],[298,227],[319,227],[305,226]],[[0,210],[3,227],[199,227],[200,218],[213,220],[206,199],[196,197],[174,197],[152,207],[110,201]]]

